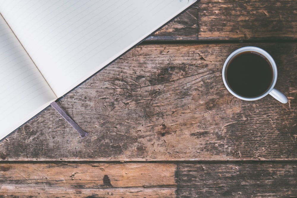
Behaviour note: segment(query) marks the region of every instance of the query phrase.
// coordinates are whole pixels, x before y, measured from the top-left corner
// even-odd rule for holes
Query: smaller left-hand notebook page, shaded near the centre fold
[[[56,98],[0,15],[0,140]]]

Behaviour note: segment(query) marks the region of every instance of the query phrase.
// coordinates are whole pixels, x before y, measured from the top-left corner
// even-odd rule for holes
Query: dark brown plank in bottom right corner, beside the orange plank
[[[297,197],[296,163],[178,164],[177,197]]]

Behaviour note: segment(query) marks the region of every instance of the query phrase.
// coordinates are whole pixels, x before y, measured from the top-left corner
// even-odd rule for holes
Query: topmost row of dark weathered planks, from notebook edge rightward
[[[149,37],[156,40],[297,39],[297,2],[201,0]]]

